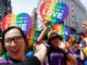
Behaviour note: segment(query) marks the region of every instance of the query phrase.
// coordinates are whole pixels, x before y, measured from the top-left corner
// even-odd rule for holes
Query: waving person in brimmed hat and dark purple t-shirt
[[[66,65],[66,60],[70,60],[73,65],[76,65],[76,58],[65,48],[65,42],[62,36],[57,31],[51,30],[48,34],[47,43],[50,46],[48,50],[48,65]]]

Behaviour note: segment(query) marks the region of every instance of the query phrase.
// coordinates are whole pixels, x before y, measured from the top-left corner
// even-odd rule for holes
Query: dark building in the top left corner
[[[11,0],[0,0],[0,23],[2,22],[2,18],[11,12]]]

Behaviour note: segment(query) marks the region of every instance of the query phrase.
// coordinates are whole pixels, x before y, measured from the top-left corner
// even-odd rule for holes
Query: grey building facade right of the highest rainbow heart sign
[[[86,21],[87,14],[85,6],[80,3],[79,0],[66,0],[69,5],[70,14],[65,20],[66,25],[74,27],[77,32],[84,30],[82,27],[82,22]]]

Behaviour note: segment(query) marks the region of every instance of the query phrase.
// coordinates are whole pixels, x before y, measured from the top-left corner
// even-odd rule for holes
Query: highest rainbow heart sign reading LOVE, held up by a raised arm
[[[42,20],[50,20],[53,24],[64,21],[69,15],[69,6],[63,2],[44,2],[39,9]]]

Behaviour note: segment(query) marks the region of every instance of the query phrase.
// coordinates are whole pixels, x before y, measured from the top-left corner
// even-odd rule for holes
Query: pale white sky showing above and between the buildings
[[[33,9],[37,6],[37,1],[38,0],[11,0],[12,11],[15,14],[25,12],[32,15]],[[87,9],[87,0],[80,1]]]

